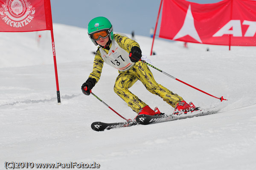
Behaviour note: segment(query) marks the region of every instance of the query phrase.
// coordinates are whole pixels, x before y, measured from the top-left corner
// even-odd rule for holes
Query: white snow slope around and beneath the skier
[[[38,35],[41,35],[38,42]],[[129,35],[128,35],[129,36]],[[87,30],[54,24],[61,105],[57,104],[50,32],[0,33],[0,170],[6,161],[84,162],[102,170],[254,170],[256,168],[255,47],[213,46],[135,36],[156,81],[217,114],[96,132],[93,121],[124,121],[81,85],[96,46]],[[209,51],[206,49],[209,48]],[[125,118],[136,114],[114,92],[117,71],[105,64],[93,92]],[[138,81],[131,91],[151,108],[173,108]]]

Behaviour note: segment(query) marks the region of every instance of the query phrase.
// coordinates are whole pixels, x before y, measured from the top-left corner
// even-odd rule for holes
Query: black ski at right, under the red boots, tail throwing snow
[[[187,113],[187,114],[182,114],[182,115],[138,115],[136,117],[136,121],[139,124],[154,124],[154,123],[160,123],[160,122],[165,122],[165,121],[175,121],[178,119],[184,119],[184,118],[192,118],[195,116],[202,116],[202,115],[210,115],[217,113],[219,110],[204,110],[204,111],[194,111],[192,113]]]

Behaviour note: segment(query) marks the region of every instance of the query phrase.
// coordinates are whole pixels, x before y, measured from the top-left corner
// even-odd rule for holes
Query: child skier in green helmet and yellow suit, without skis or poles
[[[87,81],[81,86],[85,95],[90,95],[90,90],[99,81],[103,63],[107,63],[119,70],[114,92],[138,115],[157,115],[161,113],[157,107],[152,110],[128,90],[137,80],[140,80],[149,92],[159,95],[174,107],[175,114],[186,113],[195,108],[193,104],[187,104],[179,95],[157,84],[147,64],[140,60],[142,55],[139,44],[128,37],[113,34],[113,26],[107,18],[93,18],[88,23],[88,35],[92,42],[99,46],[94,58],[93,72],[90,73]]]

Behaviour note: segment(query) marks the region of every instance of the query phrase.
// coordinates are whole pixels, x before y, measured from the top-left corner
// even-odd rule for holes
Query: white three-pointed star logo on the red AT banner
[[[183,23],[183,26],[181,27],[180,31],[175,35],[173,40],[176,40],[180,37],[184,37],[186,35],[189,35],[190,37],[194,38],[198,42],[202,43],[198,32],[195,29],[195,23],[194,23],[194,17],[191,12],[191,6],[189,4],[189,8],[186,13],[186,17]]]

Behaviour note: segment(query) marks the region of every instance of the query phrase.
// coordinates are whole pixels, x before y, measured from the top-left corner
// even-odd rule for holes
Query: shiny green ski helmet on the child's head
[[[110,40],[113,40],[114,35],[113,35],[113,26],[111,24],[111,22],[105,18],[105,17],[96,17],[93,18],[92,20],[90,20],[90,22],[88,23],[88,35],[90,37],[90,39],[93,41],[94,45],[98,45],[96,43],[96,40],[94,40],[92,38],[92,34],[95,32],[100,32],[106,30],[108,31],[108,36],[110,38]]]

